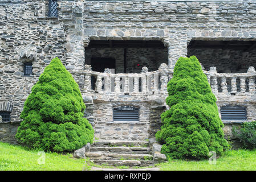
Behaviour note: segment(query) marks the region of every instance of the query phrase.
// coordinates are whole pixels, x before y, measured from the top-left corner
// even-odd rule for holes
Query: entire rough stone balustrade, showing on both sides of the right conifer
[[[245,96],[255,92],[256,72],[249,67],[247,73],[217,73],[215,67],[204,71],[208,82],[216,96]],[[88,93],[117,95],[153,95],[167,94],[167,83],[173,77],[173,69],[161,64],[157,71],[148,72],[143,68],[141,73],[104,73],[92,71],[85,65],[84,71],[75,74],[84,75],[82,90]]]

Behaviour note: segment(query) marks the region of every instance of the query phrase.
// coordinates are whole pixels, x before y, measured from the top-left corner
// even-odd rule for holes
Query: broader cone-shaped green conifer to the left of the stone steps
[[[79,86],[55,57],[44,69],[25,101],[16,138],[31,148],[73,151],[92,143],[94,129],[83,118]]]

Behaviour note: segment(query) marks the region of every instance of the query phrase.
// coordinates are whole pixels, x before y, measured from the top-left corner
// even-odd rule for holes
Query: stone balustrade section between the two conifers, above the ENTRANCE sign
[[[85,65],[84,71],[76,72],[84,75],[84,92],[104,94],[159,94],[166,91],[168,77],[172,70],[166,64],[161,64],[157,71],[148,72],[146,68],[141,73],[111,73],[105,69],[104,73],[91,70]]]

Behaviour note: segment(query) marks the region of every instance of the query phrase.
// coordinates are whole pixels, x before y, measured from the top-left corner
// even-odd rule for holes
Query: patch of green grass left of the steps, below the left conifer
[[[0,171],[82,171],[90,169],[85,159],[74,159],[72,154],[45,153],[45,164],[39,164],[43,155],[36,150],[0,142]]]

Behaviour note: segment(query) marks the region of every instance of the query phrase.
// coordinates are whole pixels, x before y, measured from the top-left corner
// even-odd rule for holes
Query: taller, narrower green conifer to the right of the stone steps
[[[161,114],[156,139],[161,152],[177,159],[206,159],[209,151],[222,155],[228,143],[207,77],[196,56],[180,57],[168,82],[170,106]]]

